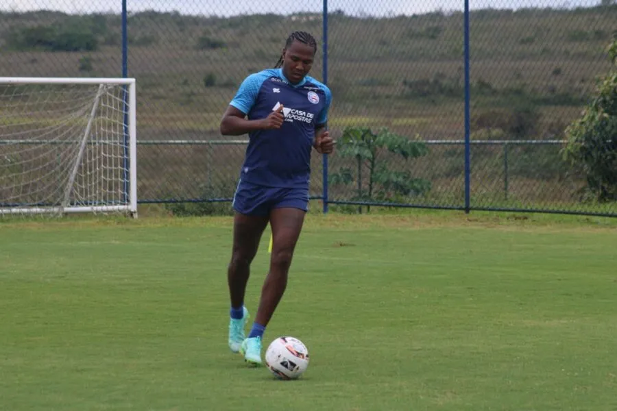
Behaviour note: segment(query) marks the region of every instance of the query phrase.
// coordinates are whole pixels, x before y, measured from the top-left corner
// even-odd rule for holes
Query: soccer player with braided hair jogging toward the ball
[[[317,53],[311,34],[293,32],[274,69],[244,79],[221,120],[221,134],[249,134],[233,201],[234,232],[228,286],[231,300],[228,344],[247,363],[261,364],[263,333],[287,287],[287,273],[304,214],[309,209],[311,150],[332,153],[326,122],[332,95],[310,77]],[[244,306],[250,264],[270,223],[270,269],[248,338]]]

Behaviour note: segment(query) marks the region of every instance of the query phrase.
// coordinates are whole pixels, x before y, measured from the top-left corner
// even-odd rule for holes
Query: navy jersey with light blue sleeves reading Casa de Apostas
[[[280,129],[255,130],[240,178],[268,187],[299,188],[309,184],[315,127],[328,121],[330,89],[310,76],[291,84],[282,69],[254,73],[242,82],[231,105],[249,120],[265,119],[283,105]]]

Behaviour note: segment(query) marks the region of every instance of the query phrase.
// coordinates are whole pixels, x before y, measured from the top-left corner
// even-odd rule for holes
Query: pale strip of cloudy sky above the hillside
[[[576,8],[598,5],[600,0],[470,0],[470,8]],[[204,16],[238,14],[293,14],[321,12],[322,0],[127,0],[130,12],[156,10]],[[56,10],[69,14],[121,11],[121,0],[0,0],[0,10]],[[359,16],[398,16],[442,10],[463,10],[463,0],[328,0],[328,10]]]

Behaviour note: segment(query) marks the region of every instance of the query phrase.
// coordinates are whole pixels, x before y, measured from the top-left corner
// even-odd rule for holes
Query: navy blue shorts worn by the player
[[[252,216],[268,216],[274,208],[298,208],[309,211],[309,187],[266,187],[240,180],[234,202],[234,210]]]

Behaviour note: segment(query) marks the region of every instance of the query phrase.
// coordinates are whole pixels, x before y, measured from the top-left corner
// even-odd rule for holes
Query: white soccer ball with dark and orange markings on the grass
[[[309,350],[298,338],[279,337],[268,346],[265,360],[278,379],[296,379],[309,366]]]

